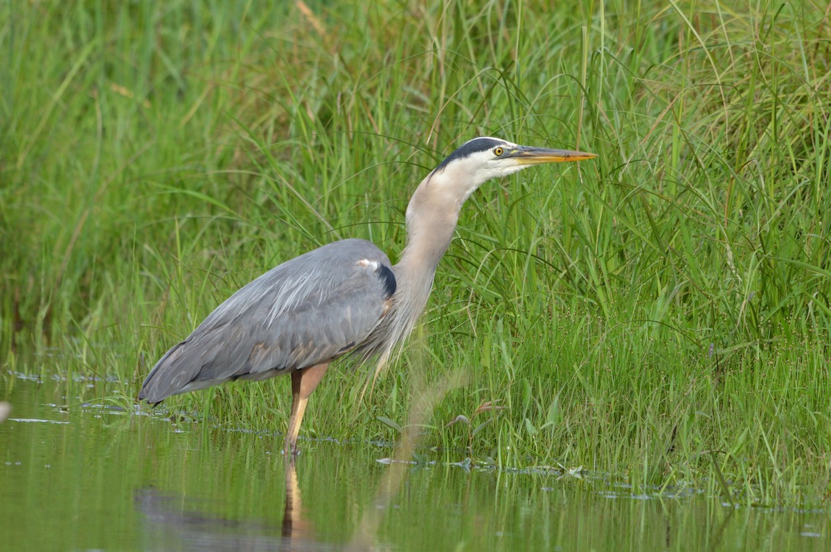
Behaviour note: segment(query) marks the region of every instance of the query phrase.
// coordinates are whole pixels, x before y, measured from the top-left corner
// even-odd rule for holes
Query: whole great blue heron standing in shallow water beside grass
[[[139,399],[160,403],[234,379],[292,374],[284,449],[287,457],[297,454],[308,397],[329,363],[351,352],[384,363],[416,325],[470,194],[490,178],[530,165],[593,157],[489,137],[465,142],[413,193],[407,245],[398,264],[361,239],[333,242],[283,262],[230,296],[165,353]]]

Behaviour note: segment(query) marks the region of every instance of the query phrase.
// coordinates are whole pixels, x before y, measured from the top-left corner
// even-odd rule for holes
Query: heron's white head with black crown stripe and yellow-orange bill
[[[516,173],[531,165],[592,159],[596,154],[568,149],[535,148],[488,136],[465,142],[436,167],[428,179],[455,188],[464,202],[491,178]]]

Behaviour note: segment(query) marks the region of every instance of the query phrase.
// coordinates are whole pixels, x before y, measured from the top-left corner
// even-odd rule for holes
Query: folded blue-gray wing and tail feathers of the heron
[[[379,324],[396,291],[390,260],[365,240],[297,256],[230,296],[155,365],[139,392],[159,403],[229,379],[266,379],[337,358]]]

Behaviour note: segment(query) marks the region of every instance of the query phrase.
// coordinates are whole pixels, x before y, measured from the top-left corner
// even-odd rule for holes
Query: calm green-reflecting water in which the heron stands
[[[278,435],[81,403],[85,385],[0,375],[0,550],[829,550],[824,510],[386,464],[371,443],[303,441],[293,471]]]

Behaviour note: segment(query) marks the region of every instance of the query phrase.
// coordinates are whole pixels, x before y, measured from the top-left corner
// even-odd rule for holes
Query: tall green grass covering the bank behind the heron
[[[341,237],[395,260],[420,178],[498,135],[599,157],[479,190],[423,336],[362,403],[332,371],[303,433],[395,439],[378,418],[446,386],[423,438],[454,462],[824,500],[831,19],[726,3],[3,2],[4,369],[127,402],[278,262]],[[288,394],[170,408],[282,430]]]

